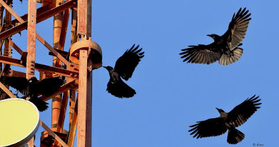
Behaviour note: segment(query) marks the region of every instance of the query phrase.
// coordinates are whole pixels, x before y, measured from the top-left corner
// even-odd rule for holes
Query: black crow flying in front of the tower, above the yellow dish
[[[40,82],[36,77],[31,77],[30,79],[25,77],[1,77],[0,82],[17,89],[25,98],[29,97],[29,101],[33,102],[39,111],[46,110],[48,103],[40,100],[38,93],[50,96],[64,84],[60,77],[46,78]]]

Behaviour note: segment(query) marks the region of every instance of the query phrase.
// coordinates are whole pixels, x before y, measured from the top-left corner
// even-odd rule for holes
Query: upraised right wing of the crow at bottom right
[[[244,102],[242,102],[240,105],[237,105],[227,114],[227,118],[229,118],[229,121],[234,123],[236,127],[239,125],[242,125],[245,123],[252,114],[257,111],[260,107],[258,105],[261,105],[262,103],[257,103],[261,99],[257,99],[259,96],[255,97],[252,96],[252,98],[247,98]]]

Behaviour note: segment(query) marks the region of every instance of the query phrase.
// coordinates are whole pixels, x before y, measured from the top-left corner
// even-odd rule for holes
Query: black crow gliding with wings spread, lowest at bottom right
[[[245,123],[260,108],[258,105],[262,103],[257,102],[261,99],[257,98],[259,96],[255,98],[255,95],[252,98],[247,98],[229,113],[226,113],[223,109],[216,108],[220,113],[220,117],[211,118],[206,121],[198,121],[197,124],[190,126],[193,128],[189,132],[194,134],[194,138],[197,137],[198,139],[202,137],[215,137],[229,130],[227,143],[237,144],[244,139],[245,135],[239,130],[236,130],[235,127],[239,127]]]

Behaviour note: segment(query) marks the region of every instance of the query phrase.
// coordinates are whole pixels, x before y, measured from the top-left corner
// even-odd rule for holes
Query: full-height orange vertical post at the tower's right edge
[[[77,1],[77,35],[81,36],[82,41],[91,40],[91,0]],[[96,47],[93,49],[96,49]],[[89,59],[90,50],[90,46],[80,47],[79,50],[80,78],[77,146],[91,146],[92,144],[92,72],[88,72],[88,67],[92,67],[93,64],[92,60]],[[99,53],[101,55],[101,52]]]

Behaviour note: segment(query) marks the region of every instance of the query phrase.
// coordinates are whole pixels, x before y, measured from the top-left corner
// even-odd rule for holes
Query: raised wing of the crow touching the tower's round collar
[[[117,59],[114,71],[116,71],[123,79],[128,80],[132,77],[135,67],[140,62],[140,59],[144,57],[144,52],[138,49],[140,45],[133,45],[128,49],[119,59]],[[134,48],[135,47],[135,48]]]

